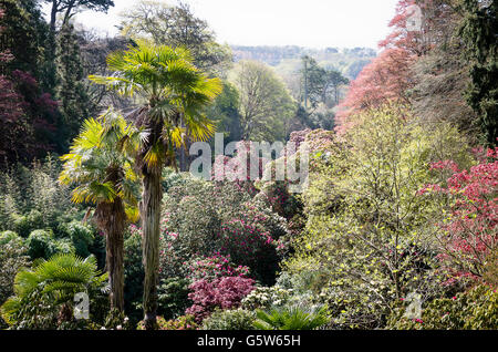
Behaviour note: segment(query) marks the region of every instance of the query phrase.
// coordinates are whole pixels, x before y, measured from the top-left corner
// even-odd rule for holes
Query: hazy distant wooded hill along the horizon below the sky
[[[282,76],[289,76],[300,70],[301,58],[314,58],[321,66],[335,69],[350,80],[354,80],[362,69],[369,64],[377,52],[371,48],[354,49],[310,49],[295,45],[288,46],[231,46],[234,58],[239,60],[257,60],[276,69]]]

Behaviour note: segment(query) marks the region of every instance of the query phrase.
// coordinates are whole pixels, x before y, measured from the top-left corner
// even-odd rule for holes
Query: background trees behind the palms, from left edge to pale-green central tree
[[[333,107],[343,96],[347,80],[340,70],[319,60],[328,55],[354,60],[375,55],[373,50],[362,48],[342,53],[335,49],[321,52],[288,48],[283,52],[289,51],[294,58],[289,76],[272,70],[261,58],[237,60],[237,52],[217,43],[208,23],[196,18],[186,4],[138,2],[123,15],[121,34],[114,38],[101,38],[72,21],[83,4],[87,10],[106,11],[113,2],[56,2],[49,23],[42,18],[38,1],[0,3],[4,38],[0,93],[2,168],[17,162],[29,164],[49,153],[65,153],[82,122],[98,116],[110,105],[131,111],[135,106],[133,100],[91,84],[87,76],[112,74],[107,71],[107,55],[141,40],[184,46],[198,69],[222,79],[222,94],[206,108],[206,114],[217,124],[217,131],[225,133],[227,143],[242,137],[281,141],[297,130],[332,128]],[[370,59],[354,71],[367,62]],[[253,101],[258,104],[249,112]],[[185,151],[178,152],[178,159],[185,170]]]

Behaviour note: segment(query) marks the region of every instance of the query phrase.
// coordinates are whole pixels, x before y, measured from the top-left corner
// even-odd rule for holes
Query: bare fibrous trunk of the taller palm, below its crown
[[[144,279],[144,323],[145,329],[152,330],[156,325],[157,315],[157,283],[159,272],[159,234],[160,234],[160,200],[163,190],[160,174],[152,170],[144,173],[142,197],[142,229],[143,229],[143,260]]]

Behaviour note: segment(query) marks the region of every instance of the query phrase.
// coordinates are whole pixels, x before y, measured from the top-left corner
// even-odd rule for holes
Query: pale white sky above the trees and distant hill
[[[308,48],[377,48],[398,0],[184,0],[220,43]],[[107,14],[85,11],[76,22],[114,35],[118,14],[137,0],[114,0]],[[163,1],[174,4],[176,1]],[[49,13],[49,6],[44,6]]]

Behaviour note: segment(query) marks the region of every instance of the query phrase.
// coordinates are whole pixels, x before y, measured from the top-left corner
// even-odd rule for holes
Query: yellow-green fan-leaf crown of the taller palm
[[[169,148],[183,144],[185,127],[193,141],[205,141],[212,134],[212,123],[203,108],[219,94],[221,84],[218,79],[200,73],[191,64],[188,51],[141,41],[138,46],[108,55],[107,66],[115,75],[91,75],[90,80],[122,95],[139,95],[151,102],[147,114],[163,121],[164,141]],[[185,127],[175,112],[183,113]],[[144,162],[151,168],[163,166],[170,152],[156,141],[144,155]]]

